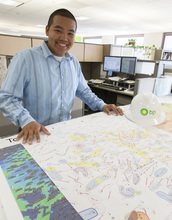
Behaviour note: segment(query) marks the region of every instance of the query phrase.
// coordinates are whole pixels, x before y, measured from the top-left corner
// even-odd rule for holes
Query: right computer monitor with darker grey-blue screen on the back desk
[[[122,57],[121,60],[121,73],[135,75],[136,57]]]

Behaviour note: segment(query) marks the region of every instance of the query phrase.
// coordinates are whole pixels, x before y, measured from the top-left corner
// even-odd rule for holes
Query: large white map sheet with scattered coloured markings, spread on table
[[[83,219],[128,220],[133,210],[172,219],[171,133],[102,112],[47,128],[50,136],[24,148]],[[13,138],[1,148],[20,144]],[[1,198],[4,191],[0,184]]]

